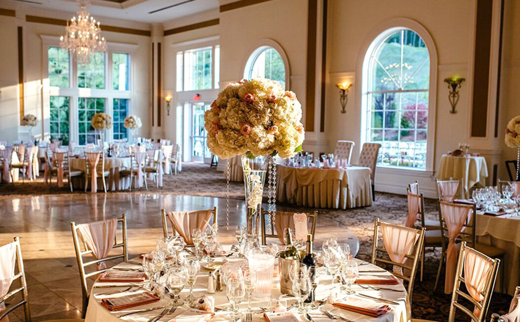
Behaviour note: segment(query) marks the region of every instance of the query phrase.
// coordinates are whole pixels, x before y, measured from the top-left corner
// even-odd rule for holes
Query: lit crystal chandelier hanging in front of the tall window
[[[90,63],[90,53],[106,51],[107,42],[101,37],[99,21],[87,12],[88,0],[79,0],[80,10],[67,21],[67,34],[60,37],[60,46],[76,53],[77,61],[82,65]]]

